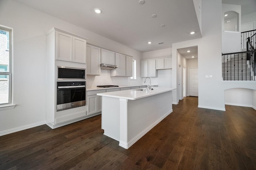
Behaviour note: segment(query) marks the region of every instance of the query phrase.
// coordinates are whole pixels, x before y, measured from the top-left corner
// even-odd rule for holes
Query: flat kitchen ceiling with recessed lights
[[[16,1],[141,52],[202,37],[192,0]],[[102,13],[96,14],[94,8]],[[192,31],[196,33],[190,35]]]

